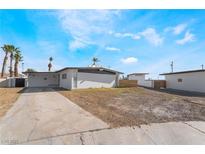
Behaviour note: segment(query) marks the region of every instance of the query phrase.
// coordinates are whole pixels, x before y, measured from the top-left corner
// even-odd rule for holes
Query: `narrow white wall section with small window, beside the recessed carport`
[[[77,70],[65,70],[60,72],[60,84],[59,86],[65,89],[73,89],[73,74],[77,72]],[[66,79],[62,79],[62,75],[67,74]]]

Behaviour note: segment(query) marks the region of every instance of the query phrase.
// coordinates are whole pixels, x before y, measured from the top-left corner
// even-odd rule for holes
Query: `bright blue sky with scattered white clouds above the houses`
[[[20,47],[25,69],[99,65],[124,73],[200,69],[205,10],[0,10],[0,45]],[[3,52],[0,54],[2,63]],[[0,65],[1,66],[1,65]]]

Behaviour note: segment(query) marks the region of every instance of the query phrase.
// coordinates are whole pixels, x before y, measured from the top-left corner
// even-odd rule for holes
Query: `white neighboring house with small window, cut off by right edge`
[[[170,89],[205,92],[205,70],[163,73]]]

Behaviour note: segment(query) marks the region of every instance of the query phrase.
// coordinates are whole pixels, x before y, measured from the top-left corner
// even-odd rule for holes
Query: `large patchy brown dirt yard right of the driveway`
[[[203,96],[181,96],[140,87],[58,92],[111,127],[170,121],[205,121]]]

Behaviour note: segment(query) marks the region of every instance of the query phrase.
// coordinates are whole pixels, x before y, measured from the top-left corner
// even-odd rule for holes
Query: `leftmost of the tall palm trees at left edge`
[[[4,61],[3,61],[3,65],[2,65],[2,71],[1,71],[1,77],[4,77],[6,63],[8,60],[8,54],[12,51],[13,47],[12,47],[12,45],[4,44],[4,46],[1,48],[5,52]]]

